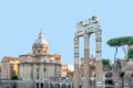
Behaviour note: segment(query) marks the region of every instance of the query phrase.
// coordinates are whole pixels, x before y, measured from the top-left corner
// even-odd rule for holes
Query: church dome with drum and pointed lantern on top
[[[33,43],[32,46],[33,54],[48,55],[49,54],[49,44],[43,40],[42,32],[39,33],[38,40]]]

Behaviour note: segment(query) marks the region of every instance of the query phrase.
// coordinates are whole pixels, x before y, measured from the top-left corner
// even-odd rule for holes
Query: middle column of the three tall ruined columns
[[[90,88],[89,37],[89,34],[84,34],[84,88]]]

